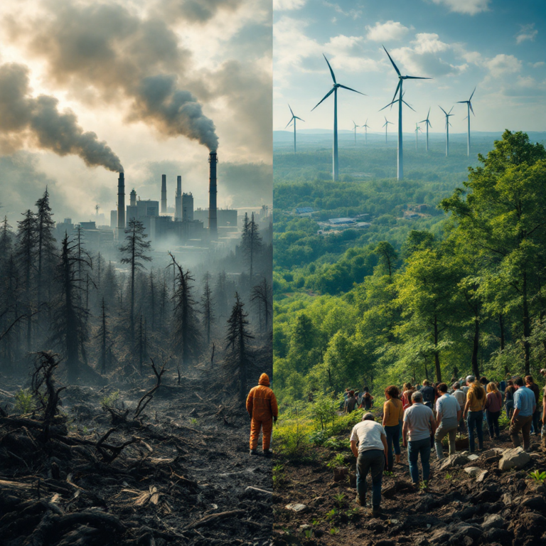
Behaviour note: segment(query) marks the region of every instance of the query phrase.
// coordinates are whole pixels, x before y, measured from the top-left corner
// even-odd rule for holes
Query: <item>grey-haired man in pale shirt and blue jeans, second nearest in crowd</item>
[[[417,391],[412,394],[413,404],[404,414],[402,444],[407,446],[412,483],[419,484],[419,457],[423,467],[423,482],[429,485],[431,437],[436,432],[436,419],[432,410],[423,404],[423,395]]]

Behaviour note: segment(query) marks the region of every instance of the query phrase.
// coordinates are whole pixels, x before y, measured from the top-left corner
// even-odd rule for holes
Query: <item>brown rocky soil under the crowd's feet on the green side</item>
[[[348,444],[349,434],[338,438]],[[540,437],[531,436],[530,454],[508,451],[513,445],[506,429],[499,441],[486,437],[477,458],[469,459],[466,451],[440,464],[431,453],[428,491],[412,488],[402,449],[394,476],[383,476],[380,516],[355,503],[355,458],[348,446],[319,447],[311,460],[299,463],[277,456],[274,545],[546,544],[546,487],[530,477],[532,471],[546,470]],[[499,464],[510,453],[516,465],[501,471]],[[339,481],[326,466],[336,454],[345,456],[347,469],[336,471]],[[368,503],[370,486],[368,476]]]

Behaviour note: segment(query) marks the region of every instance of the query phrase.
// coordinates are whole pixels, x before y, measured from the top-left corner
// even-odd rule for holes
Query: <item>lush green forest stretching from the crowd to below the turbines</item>
[[[346,174],[333,183],[311,166],[288,180],[294,154],[275,156],[282,405],[346,387],[537,375],[546,356],[546,150],[509,131],[481,149],[473,164],[434,154],[422,176],[404,181]],[[425,213],[408,220],[415,205]],[[304,206],[311,217],[294,214]],[[318,222],[356,215],[368,215],[369,227],[318,234]]]

